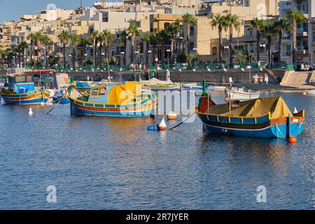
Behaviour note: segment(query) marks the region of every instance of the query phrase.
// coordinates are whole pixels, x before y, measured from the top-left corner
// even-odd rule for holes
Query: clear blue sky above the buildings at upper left
[[[92,6],[94,1],[83,0],[83,6]],[[80,0],[0,0],[0,23],[3,20],[17,21],[20,15],[33,14],[36,10],[45,9],[49,3],[55,3],[57,8],[80,6]]]

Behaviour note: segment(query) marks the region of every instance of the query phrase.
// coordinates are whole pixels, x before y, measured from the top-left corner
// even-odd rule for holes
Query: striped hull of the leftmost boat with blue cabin
[[[50,95],[48,92],[35,90],[23,94],[1,93],[1,97],[5,104],[28,105],[45,103],[48,101]]]

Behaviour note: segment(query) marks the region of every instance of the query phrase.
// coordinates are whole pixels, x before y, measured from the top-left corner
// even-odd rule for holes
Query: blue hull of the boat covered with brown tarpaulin
[[[302,133],[302,130],[304,130],[304,118],[300,117],[277,118],[258,124],[251,122],[248,124],[237,124],[235,123],[235,120],[231,121],[231,118],[230,122],[229,120],[226,120],[225,122],[214,122],[211,121],[213,120],[211,116],[210,118],[209,116],[200,116],[200,118],[203,123],[204,131],[211,134],[226,134],[254,138],[288,138],[291,136],[296,137]],[[260,119],[264,120],[264,118]],[[288,122],[288,119],[290,119],[290,123]]]

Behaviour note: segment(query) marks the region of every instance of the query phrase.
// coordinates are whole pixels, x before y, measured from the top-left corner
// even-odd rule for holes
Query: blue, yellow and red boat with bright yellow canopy
[[[71,113],[87,116],[145,117],[155,112],[155,94],[141,92],[141,83],[112,83],[81,92],[68,89]]]

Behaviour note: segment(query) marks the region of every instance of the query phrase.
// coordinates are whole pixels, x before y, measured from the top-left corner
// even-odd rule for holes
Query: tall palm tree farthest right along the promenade
[[[295,52],[297,50],[296,45],[296,27],[297,23],[306,22],[306,18],[304,18],[303,13],[300,10],[297,10],[296,8],[293,8],[293,10],[290,10],[288,12],[288,15],[286,15],[286,20],[290,23],[290,30],[292,30],[292,39],[293,39],[293,49],[292,49],[292,62],[295,64],[296,55]]]

